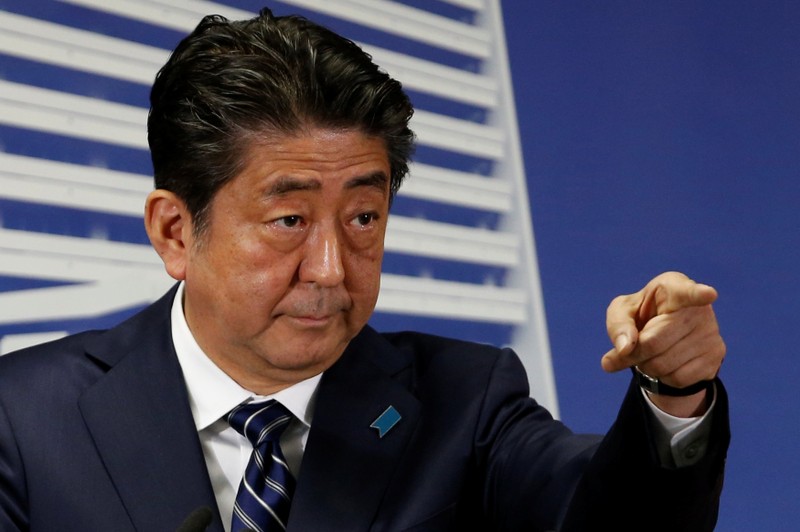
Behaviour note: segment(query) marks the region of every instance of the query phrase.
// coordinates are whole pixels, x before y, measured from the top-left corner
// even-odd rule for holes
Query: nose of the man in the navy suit
[[[305,242],[300,281],[332,287],[344,281],[344,265],[336,227],[317,225]]]

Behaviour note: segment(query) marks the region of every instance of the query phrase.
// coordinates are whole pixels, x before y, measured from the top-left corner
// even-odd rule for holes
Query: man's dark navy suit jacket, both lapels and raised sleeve
[[[109,331],[0,357],[0,530],[174,531],[214,494],[170,335],[174,291]],[[402,419],[382,438],[387,407]],[[710,530],[729,433],[662,468],[631,388],[604,439],[528,397],[510,350],[365,328],[323,376],[290,531]],[[571,503],[570,503],[571,501]]]

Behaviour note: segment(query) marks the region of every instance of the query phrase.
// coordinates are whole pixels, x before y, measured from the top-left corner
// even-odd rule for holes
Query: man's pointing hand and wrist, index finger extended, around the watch
[[[663,273],[639,292],[615,298],[606,313],[615,347],[603,356],[603,369],[638,366],[677,388],[713,379],[725,358],[725,342],[711,307],[716,299],[712,287],[678,272]],[[651,399],[667,413],[690,417],[705,411],[705,394]]]

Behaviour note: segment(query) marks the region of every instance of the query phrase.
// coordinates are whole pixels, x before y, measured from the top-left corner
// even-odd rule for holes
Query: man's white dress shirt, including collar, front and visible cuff
[[[183,314],[183,287],[181,283],[172,304],[172,341],[186,381],[192,416],[222,523],[229,531],[236,492],[253,447],[247,438],[228,425],[223,416],[248,399],[275,399],[285,406],[295,419],[281,435],[280,445],[289,469],[298,478],[322,374],[268,397],[242,388],[208,358],[192,336]],[[647,393],[642,393],[658,421],[653,425],[662,464],[682,467],[700,460],[708,442],[714,403],[702,417],[677,418],[659,410]]]

